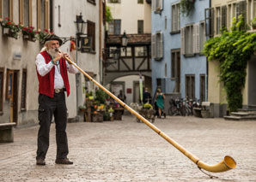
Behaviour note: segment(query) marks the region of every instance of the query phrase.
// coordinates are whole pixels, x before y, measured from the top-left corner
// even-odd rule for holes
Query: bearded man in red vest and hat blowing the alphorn
[[[55,34],[45,38],[45,47],[36,56],[35,64],[39,80],[39,120],[40,129],[37,138],[36,164],[46,165],[46,153],[49,148],[49,134],[52,115],[56,128],[57,155],[55,163],[73,164],[67,156],[69,154],[68,138],[66,134],[67,108],[65,91],[70,95],[69,73],[77,73],[76,67],[67,62],[66,53],[57,50],[62,39]]]

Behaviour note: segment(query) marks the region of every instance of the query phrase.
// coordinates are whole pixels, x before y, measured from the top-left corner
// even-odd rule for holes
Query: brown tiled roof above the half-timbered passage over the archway
[[[107,35],[106,44],[121,44],[120,35]],[[128,38],[128,44],[151,44],[151,33],[144,34],[126,34]]]

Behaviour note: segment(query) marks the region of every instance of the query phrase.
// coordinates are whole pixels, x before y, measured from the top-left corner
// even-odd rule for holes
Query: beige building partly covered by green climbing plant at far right
[[[232,26],[232,19],[238,15],[246,17],[247,24],[256,17],[256,1],[221,1],[212,0],[211,9],[214,14],[211,14],[210,21],[212,26],[210,29],[214,36],[218,36],[221,33],[221,27],[226,26],[228,29]],[[256,32],[252,27],[249,32]],[[222,83],[219,82],[219,62],[209,62],[209,95],[208,100],[214,103],[214,115],[216,117],[222,117],[226,115],[227,101],[226,94]],[[252,56],[251,60],[247,63],[247,77],[246,85],[242,91],[243,95],[243,107],[245,109],[256,105],[256,56]]]

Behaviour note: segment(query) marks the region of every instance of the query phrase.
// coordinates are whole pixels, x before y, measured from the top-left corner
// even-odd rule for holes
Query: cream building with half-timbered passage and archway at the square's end
[[[139,103],[139,79],[151,92],[151,4],[145,0],[107,0],[113,21],[107,23],[106,48],[120,50],[118,59],[113,54],[107,56],[105,84],[118,96],[122,90],[126,103]],[[120,38],[123,34],[128,44],[122,47]],[[131,76],[132,75],[132,76]]]

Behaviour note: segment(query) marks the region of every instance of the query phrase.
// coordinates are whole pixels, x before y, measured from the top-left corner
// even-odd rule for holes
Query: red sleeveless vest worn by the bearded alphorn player
[[[46,64],[52,61],[52,57],[46,52],[40,52],[40,54],[45,58]],[[70,96],[70,83],[68,78],[68,72],[67,72],[67,66],[66,61],[64,58],[61,58],[59,60],[59,68],[60,73],[62,76],[62,79],[64,81],[65,89],[67,91],[67,96]],[[48,97],[53,97],[54,95],[54,74],[55,74],[55,67],[51,69],[49,73],[47,73],[45,76],[41,76],[38,71],[37,76],[39,80],[39,92],[40,94],[44,94]]]

